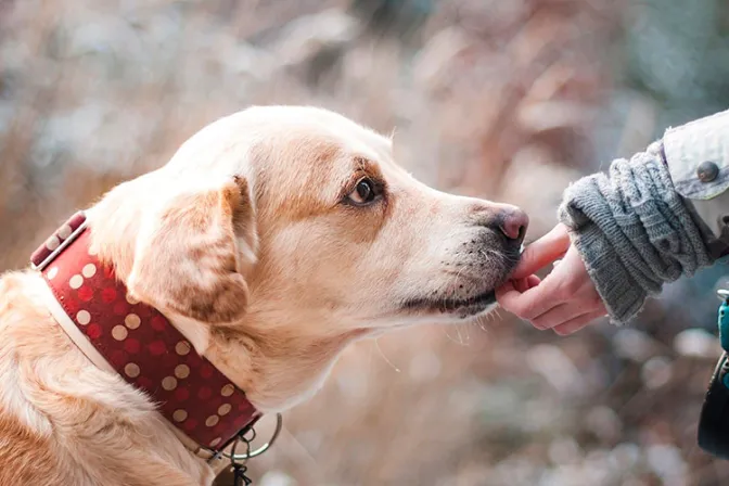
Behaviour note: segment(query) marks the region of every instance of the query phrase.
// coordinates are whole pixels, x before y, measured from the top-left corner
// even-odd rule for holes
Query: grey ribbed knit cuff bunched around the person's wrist
[[[559,209],[612,320],[632,318],[664,282],[713,260],[656,143],[609,175],[570,186]]]

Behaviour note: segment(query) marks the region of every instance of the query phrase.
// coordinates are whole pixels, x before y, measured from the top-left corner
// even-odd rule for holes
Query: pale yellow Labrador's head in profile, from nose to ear
[[[392,140],[331,112],[254,107],[93,209],[130,292],[172,318],[337,336],[487,311],[526,230],[517,208],[446,194]]]

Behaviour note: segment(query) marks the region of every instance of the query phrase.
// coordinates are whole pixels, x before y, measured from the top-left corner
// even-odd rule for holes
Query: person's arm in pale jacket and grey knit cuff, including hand
[[[669,129],[645,152],[615,161],[608,175],[567,188],[563,227],[527,247],[497,297],[504,309],[560,333],[599,312],[626,322],[664,283],[727,254],[728,187],[729,112]],[[560,252],[563,261],[527,289],[522,279]]]

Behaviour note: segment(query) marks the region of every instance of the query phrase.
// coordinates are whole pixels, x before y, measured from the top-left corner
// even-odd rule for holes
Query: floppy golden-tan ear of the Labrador
[[[248,300],[255,215],[245,179],[177,193],[144,218],[127,279],[130,295],[202,322],[231,322]]]

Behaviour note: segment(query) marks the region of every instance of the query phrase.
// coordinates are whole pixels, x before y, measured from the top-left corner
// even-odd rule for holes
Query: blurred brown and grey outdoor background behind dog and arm
[[[204,125],[284,103],[396,129],[418,178],[521,205],[534,240],[571,180],[729,106],[729,4],[0,0],[0,270]],[[725,273],[624,329],[501,312],[361,343],[255,484],[726,485],[695,445]]]

